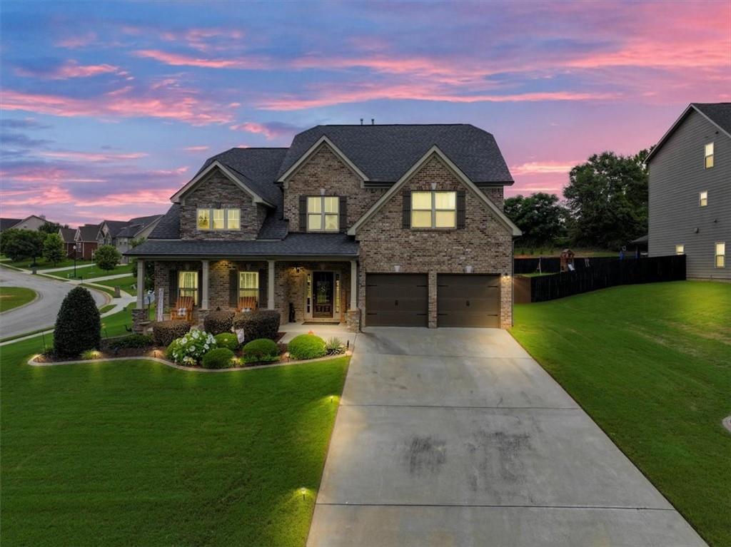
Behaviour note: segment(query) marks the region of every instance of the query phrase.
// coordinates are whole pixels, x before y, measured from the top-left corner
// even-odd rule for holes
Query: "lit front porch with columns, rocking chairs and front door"
[[[178,299],[192,298],[193,320],[213,310],[276,310],[281,325],[346,326],[357,331],[357,261],[343,259],[155,259],[156,299],[164,317]],[[145,260],[137,261],[144,275]],[[137,295],[137,309],[144,305]],[[304,325],[303,325],[304,324]],[[303,332],[307,332],[305,329]]]

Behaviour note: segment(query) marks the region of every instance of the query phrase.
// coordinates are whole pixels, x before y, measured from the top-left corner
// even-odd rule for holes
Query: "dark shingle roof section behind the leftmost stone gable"
[[[281,192],[273,182],[286,153],[287,148],[231,148],[208,158],[198,172],[220,161],[240,175],[251,190],[276,205],[281,202]]]

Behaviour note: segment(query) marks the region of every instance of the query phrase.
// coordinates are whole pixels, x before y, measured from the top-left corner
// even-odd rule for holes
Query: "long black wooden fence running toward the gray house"
[[[686,278],[685,255],[655,256],[651,259],[618,260],[534,278],[514,279],[515,303],[545,302],[596,291],[599,288],[659,281],[682,281]]]

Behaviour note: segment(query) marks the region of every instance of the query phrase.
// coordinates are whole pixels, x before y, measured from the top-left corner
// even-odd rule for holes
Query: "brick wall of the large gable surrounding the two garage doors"
[[[412,230],[402,227],[403,190],[466,190],[466,224],[455,230]],[[358,307],[366,310],[366,273],[428,273],[429,326],[436,327],[436,274],[512,272],[512,233],[480,198],[433,156],[356,234],[360,242]],[[501,325],[512,324],[512,277],[501,278]],[[366,325],[367,326],[367,325]]]

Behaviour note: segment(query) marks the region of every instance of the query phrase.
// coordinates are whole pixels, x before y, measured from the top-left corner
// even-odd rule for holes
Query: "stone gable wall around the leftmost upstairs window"
[[[197,209],[240,209],[240,230],[198,230]],[[266,216],[266,207],[255,204],[251,196],[233,183],[219,169],[186,194],[181,203],[181,238],[183,240],[253,240]]]

